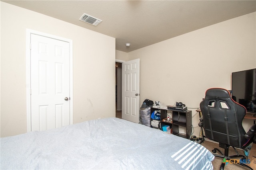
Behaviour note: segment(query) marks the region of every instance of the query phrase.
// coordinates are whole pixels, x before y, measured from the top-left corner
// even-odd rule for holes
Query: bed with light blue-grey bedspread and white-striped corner
[[[114,117],[0,142],[1,169],[213,169],[202,145]]]

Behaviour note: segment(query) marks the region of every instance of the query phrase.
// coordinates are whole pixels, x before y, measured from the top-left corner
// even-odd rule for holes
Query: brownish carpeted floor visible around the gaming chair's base
[[[212,151],[212,149],[214,149],[214,148],[218,148],[224,153],[224,149],[220,148],[218,143],[214,143],[211,141],[204,141],[201,145],[203,145],[204,147],[206,147],[206,149],[208,149],[210,151]],[[244,150],[241,150],[241,149],[236,149],[236,150],[238,151],[239,154],[244,155]],[[216,152],[216,154],[219,154],[219,153]],[[235,154],[236,154],[236,152],[234,151],[234,149],[232,147],[230,147],[229,155],[235,155]],[[220,164],[222,164],[222,161],[223,161],[223,158],[218,158],[218,157],[214,158],[214,160],[212,161],[214,170],[220,169]],[[228,163],[227,165],[225,165],[224,170],[248,170],[248,169],[244,168],[243,166],[237,165],[237,164]]]

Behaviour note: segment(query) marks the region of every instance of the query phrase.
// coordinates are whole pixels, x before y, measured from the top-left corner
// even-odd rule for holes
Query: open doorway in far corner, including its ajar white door
[[[122,119],[139,123],[140,59],[116,62],[116,112],[121,110]]]

